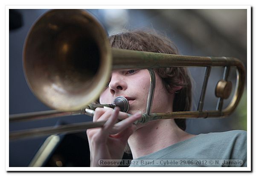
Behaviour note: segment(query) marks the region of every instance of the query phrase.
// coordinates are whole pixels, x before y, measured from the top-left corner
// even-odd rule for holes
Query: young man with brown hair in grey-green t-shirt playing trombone
[[[177,48],[170,40],[154,32],[124,31],[110,36],[109,40],[114,48],[177,54]],[[154,71],[156,87],[151,112],[189,111],[191,81],[186,68],[159,68]],[[96,109],[93,121],[108,121],[102,128],[87,130],[92,167],[101,166],[100,159],[122,159],[127,143],[133,159],[242,159],[239,166],[247,165],[245,131],[193,135],[185,132],[184,119],[164,119],[134,125],[133,122],[145,112],[149,84],[150,76],[146,69],[112,72],[99,102],[111,103],[115,97],[122,95],[130,103],[128,113],[133,115],[128,117],[119,112],[119,108]],[[117,118],[124,120],[116,123]],[[182,163],[179,164],[182,166]],[[184,163],[184,166],[192,166],[190,164]],[[131,166],[170,165],[157,162],[145,165],[140,162]]]

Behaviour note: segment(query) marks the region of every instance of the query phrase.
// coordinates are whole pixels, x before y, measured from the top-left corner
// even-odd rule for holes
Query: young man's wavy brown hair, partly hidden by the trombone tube
[[[152,30],[121,31],[109,36],[109,41],[113,48],[178,54],[177,47],[171,40]],[[175,86],[182,87],[175,92],[173,111],[189,111],[192,102],[192,83],[187,68],[154,68],[154,71],[162,78],[168,92],[173,93]],[[186,130],[186,119],[175,119],[175,123],[183,131]]]

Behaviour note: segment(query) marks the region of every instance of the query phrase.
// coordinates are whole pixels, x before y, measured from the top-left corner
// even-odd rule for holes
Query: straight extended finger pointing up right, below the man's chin
[[[116,123],[111,131],[109,131],[110,134],[116,134],[121,131],[123,131],[125,128],[127,128],[129,125],[131,125],[133,122],[141,118],[141,113],[138,112],[134,115],[129,116],[128,118]]]

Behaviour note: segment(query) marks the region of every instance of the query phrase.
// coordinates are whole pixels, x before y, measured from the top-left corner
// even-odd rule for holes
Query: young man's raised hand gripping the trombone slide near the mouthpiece
[[[90,166],[98,167],[99,159],[122,159],[129,136],[136,130],[133,124],[140,119],[141,113],[128,116],[119,108],[96,108],[93,122],[106,121],[102,128],[87,129],[90,147]],[[118,123],[117,120],[124,119]]]

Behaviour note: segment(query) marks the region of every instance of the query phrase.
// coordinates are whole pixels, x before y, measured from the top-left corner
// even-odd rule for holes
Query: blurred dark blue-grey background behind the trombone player
[[[23,74],[22,50],[29,28],[48,9],[9,9],[9,114],[49,110],[30,91]],[[154,28],[166,34],[183,55],[232,56],[247,67],[246,9],[89,9],[108,34],[123,28]],[[249,65],[250,66],[250,65]],[[189,68],[194,79],[193,109],[200,97],[205,68]],[[214,88],[223,68],[212,68],[204,109],[215,109]],[[235,69],[229,79],[236,83]],[[230,99],[224,102],[224,108]],[[91,121],[89,116],[15,122],[9,131],[53,126],[59,123]],[[247,88],[236,111],[222,119],[188,119],[186,131],[193,134],[247,130]],[[32,163],[46,137],[9,142],[9,167],[27,167]],[[49,138],[48,138],[49,140]],[[58,136],[42,166],[89,166],[86,133]],[[131,156],[124,156],[131,158]]]

